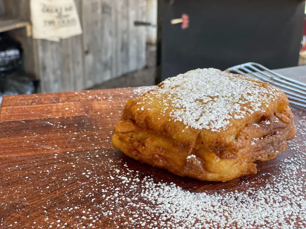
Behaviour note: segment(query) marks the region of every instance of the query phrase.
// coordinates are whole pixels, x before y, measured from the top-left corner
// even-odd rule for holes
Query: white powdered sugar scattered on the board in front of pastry
[[[109,218],[110,228],[306,228],[306,122],[296,124],[301,140],[290,142],[292,154],[280,160],[277,172],[259,172],[254,180],[239,181],[239,191],[189,191],[144,176],[127,164],[122,168],[103,163],[103,169],[109,170],[107,177],[97,176],[92,169],[83,174],[88,178],[84,185],[99,190],[103,201],[96,201],[97,194],[91,191],[85,194],[93,206],[67,204],[59,212],[73,214],[76,228],[83,228],[85,222],[95,227],[103,217]],[[101,185],[103,180],[108,180],[107,187]]]

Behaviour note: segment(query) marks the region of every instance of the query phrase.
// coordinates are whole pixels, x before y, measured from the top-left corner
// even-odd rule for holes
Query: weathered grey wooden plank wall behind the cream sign
[[[6,15],[30,20],[30,0],[3,0]],[[146,64],[144,0],[75,0],[83,34],[60,42],[24,38],[28,73],[41,92],[91,88]],[[20,40],[20,39],[19,39]],[[125,85],[118,85],[124,87]]]

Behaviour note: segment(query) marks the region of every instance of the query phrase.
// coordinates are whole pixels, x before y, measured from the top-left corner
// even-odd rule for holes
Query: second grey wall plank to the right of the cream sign
[[[114,14],[114,9],[112,5],[112,0],[103,0],[102,2],[102,61],[103,61],[103,81],[109,80],[113,77],[113,39],[114,39],[114,25],[112,20],[112,15]]]

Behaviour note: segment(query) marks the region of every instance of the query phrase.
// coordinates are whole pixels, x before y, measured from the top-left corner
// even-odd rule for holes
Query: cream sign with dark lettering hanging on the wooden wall
[[[74,0],[31,0],[31,21],[35,39],[58,42],[82,34]]]

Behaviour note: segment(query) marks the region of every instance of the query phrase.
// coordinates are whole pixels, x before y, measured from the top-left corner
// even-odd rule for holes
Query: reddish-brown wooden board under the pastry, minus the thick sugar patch
[[[172,187],[171,182],[181,187],[178,196],[182,192],[187,196],[207,193],[212,198],[250,189],[254,193],[273,185],[276,180],[279,182],[278,177],[283,177],[281,173],[291,173],[288,176],[298,181],[299,189],[304,189],[305,110],[292,107],[298,129],[296,138],[289,149],[274,160],[258,162],[256,175],[225,183],[205,182],[134,161],[112,147],[113,127],[121,117],[123,106],[141,90],[145,89],[5,96],[0,111],[0,227],[191,227],[190,222],[164,224],[171,220],[167,215],[163,220],[165,215],[158,212],[162,203],[142,197],[141,193],[156,192],[153,186],[159,182],[164,184],[162,187],[168,184]],[[286,166],[296,169],[288,170]],[[297,213],[305,216],[305,206],[301,207],[305,196],[300,192],[295,194],[293,185],[289,186],[293,189],[290,198],[296,196],[302,201]],[[248,192],[248,195],[257,194]],[[162,196],[162,191],[157,196]],[[143,215],[138,216],[140,214]],[[293,227],[275,228],[306,226],[303,219],[289,216],[284,223],[293,222]],[[226,219],[229,217],[234,216],[226,216]],[[229,223],[229,227],[241,226],[237,220]],[[259,226],[254,224],[254,227]],[[219,226],[216,224],[215,228]]]

